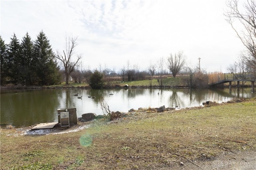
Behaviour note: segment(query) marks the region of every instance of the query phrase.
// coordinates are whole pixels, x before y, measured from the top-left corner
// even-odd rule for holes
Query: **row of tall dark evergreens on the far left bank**
[[[54,85],[60,83],[60,68],[48,38],[40,31],[32,41],[26,35],[19,41],[14,33],[10,43],[1,43],[1,85]]]

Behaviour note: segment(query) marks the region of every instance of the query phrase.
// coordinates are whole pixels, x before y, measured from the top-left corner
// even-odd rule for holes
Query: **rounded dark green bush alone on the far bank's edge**
[[[90,76],[89,85],[92,89],[101,89],[104,86],[103,74],[98,70],[94,70]]]

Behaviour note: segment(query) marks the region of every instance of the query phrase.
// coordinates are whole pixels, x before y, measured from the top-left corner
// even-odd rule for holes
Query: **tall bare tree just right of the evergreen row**
[[[70,74],[74,71],[75,66],[78,66],[78,61],[82,58],[82,55],[78,55],[76,60],[72,60],[74,56],[74,48],[78,45],[77,44],[77,37],[72,36],[65,36],[66,39],[66,47],[65,50],[63,50],[63,53],[59,53],[57,51],[57,54],[55,57],[59,59],[65,69],[65,76],[66,76],[66,85],[68,85],[68,79]]]

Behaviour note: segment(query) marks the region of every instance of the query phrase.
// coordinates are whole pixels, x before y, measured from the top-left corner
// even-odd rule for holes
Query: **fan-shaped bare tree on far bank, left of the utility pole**
[[[170,72],[172,72],[172,76],[176,77],[178,72],[182,69],[182,66],[185,64],[185,57],[183,55],[183,51],[178,52],[178,54],[172,55],[167,58],[167,66]]]

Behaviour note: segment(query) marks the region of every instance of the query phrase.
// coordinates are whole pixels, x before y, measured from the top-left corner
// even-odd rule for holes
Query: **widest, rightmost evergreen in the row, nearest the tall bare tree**
[[[36,80],[39,85],[53,85],[60,82],[58,64],[54,58],[52,47],[43,31],[37,35],[34,42],[33,70],[36,70]]]

